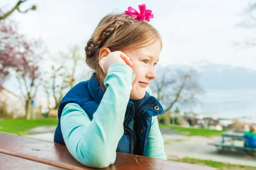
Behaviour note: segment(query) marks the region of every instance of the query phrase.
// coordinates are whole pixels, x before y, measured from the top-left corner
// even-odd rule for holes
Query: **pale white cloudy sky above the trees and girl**
[[[138,10],[145,3],[154,19],[150,23],[163,37],[160,64],[195,64],[202,61],[242,66],[256,70],[256,47],[234,46],[256,35],[256,29],[237,27],[244,16],[247,0],[27,0],[36,11],[14,12],[9,18],[18,23],[19,32],[31,39],[41,38],[50,54],[66,51],[73,44],[81,47],[99,20],[111,12],[124,12],[128,6]],[[3,10],[17,0],[1,0]]]

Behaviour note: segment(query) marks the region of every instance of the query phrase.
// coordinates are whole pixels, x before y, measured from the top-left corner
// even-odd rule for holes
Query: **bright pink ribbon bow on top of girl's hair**
[[[149,9],[146,9],[146,5],[142,4],[139,5],[140,13],[136,11],[136,9],[132,8],[131,6],[128,7],[128,11],[125,11],[125,14],[131,15],[134,20],[140,21],[150,21],[150,18],[154,18],[154,14]]]

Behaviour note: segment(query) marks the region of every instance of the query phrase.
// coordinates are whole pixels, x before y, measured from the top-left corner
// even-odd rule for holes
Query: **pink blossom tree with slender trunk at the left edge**
[[[0,20],[0,32],[0,86],[8,75],[17,78],[28,118],[29,103],[35,98],[40,83],[38,63],[44,54],[41,50],[42,43],[26,40],[17,33],[16,25],[12,21]]]

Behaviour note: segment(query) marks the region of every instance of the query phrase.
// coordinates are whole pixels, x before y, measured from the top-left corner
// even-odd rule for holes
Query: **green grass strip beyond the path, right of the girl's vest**
[[[170,129],[177,130],[182,135],[187,136],[218,136],[221,135],[224,131],[218,131],[218,130],[209,130],[209,129],[203,129],[203,128],[194,128],[194,127],[180,127],[178,125],[166,125],[166,124],[159,124],[159,127],[169,127]]]

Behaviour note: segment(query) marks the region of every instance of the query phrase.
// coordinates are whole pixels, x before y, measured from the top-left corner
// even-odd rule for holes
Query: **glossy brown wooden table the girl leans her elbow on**
[[[0,133],[0,170],[95,170],[80,164],[67,147],[53,141]],[[102,170],[217,170],[175,161],[116,153]]]

